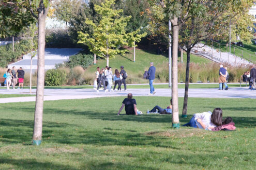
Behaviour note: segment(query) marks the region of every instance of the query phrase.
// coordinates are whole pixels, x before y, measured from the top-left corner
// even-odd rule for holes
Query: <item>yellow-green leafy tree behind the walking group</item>
[[[99,22],[86,19],[85,23],[91,26],[93,33],[90,36],[82,31],[78,32],[78,43],[85,44],[92,53],[99,57],[109,59],[117,54],[124,54],[126,49],[120,49],[127,43],[127,33],[125,28],[130,16],[121,16],[122,9],[113,9],[114,0],[107,0],[100,5],[95,5],[94,9],[100,16]]]

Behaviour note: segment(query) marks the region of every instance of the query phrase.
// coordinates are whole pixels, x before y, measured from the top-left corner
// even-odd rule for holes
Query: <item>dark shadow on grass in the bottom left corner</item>
[[[52,162],[38,162],[35,159],[8,159],[0,158],[1,164],[18,166],[19,169],[76,169],[69,165],[55,164]]]

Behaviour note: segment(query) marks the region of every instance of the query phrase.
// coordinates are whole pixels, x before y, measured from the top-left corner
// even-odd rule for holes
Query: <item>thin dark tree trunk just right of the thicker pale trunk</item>
[[[190,66],[190,49],[187,49],[187,66],[186,66],[185,94],[184,94],[184,103],[183,103],[182,117],[187,117],[187,110],[188,110],[189,66]]]

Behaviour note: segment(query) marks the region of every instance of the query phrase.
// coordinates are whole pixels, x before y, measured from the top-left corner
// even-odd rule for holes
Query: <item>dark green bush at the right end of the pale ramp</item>
[[[93,59],[94,57],[92,54],[79,53],[77,55],[69,57],[67,66],[70,68],[73,68],[75,66],[82,66],[83,69],[86,69],[89,65],[93,64]]]

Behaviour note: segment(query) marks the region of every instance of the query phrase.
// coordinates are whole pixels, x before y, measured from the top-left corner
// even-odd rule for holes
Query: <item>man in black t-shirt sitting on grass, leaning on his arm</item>
[[[121,113],[121,111],[123,110],[124,107],[125,107],[125,112],[127,115],[129,115],[129,114],[138,115],[136,105],[137,105],[136,100],[134,98],[132,98],[132,94],[129,93],[127,95],[127,98],[124,99],[123,104],[122,104],[121,108],[119,109],[117,115],[119,115]]]

